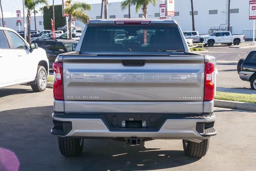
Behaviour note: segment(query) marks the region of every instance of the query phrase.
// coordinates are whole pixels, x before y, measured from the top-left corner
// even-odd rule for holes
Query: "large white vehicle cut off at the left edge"
[[[27,83],[34,91],[44,91],[48,69],[45,50],[28,44],[14,30],[0,27],[0,88]]]

